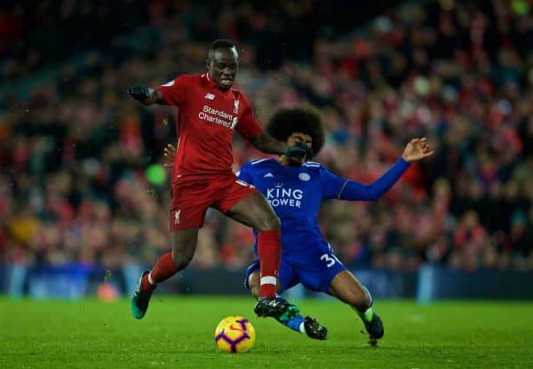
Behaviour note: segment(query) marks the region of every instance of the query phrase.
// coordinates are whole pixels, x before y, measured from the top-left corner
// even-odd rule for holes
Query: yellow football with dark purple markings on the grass
[[[255,344],[255,328],[247,318],[223,318],[215,329],[215,343],[223,352],[248,352]]]

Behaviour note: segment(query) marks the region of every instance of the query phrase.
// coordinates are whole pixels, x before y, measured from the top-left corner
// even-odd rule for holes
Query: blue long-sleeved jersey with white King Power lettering
[[[290,257],[309,247],[329,247],[317,223],[323,199],[378,200],[408,168],[409,163],[400,159],[376,182],[362,185],[334,175],[317,162],[285,167],[274,159],[261,159],[248,161],[238,176],[257,187],[280,217],[283,257]],[[257,252],[257,242],[255,247]]]

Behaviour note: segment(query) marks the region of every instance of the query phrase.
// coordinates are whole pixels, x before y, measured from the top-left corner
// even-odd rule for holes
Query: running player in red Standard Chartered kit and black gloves
[[[179,107],[177,152],[171,177],[171,253],[145,271],[131,298],[131,312],[143,318],[157,283],[187,267],[195,254],[198,230],[207,208],[216,208],[259,231],[260,292],[254,311],[260,317],[288,320],[298,308],[275,294],[281,257],[280,220],[255,187],[232,170],[234,130],[265,153],[285,153],[285,144],[263,131],[251,104],[232,88],[239,65],[235,44],[211,44],[207,73],[179,75],[156,89],[133,86],[132,98],[144,105]],[[290,154],[290,153],[289,153]]]

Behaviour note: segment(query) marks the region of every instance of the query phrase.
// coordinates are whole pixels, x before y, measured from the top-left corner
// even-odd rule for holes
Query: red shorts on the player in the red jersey
[[[171,232],[201,228],[207,208],[222,213],[258,190],[233,172],[209,177],[180,177],[171,185]]]

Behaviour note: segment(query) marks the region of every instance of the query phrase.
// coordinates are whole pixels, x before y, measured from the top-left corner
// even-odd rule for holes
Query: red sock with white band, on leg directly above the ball
[[[282,257],[282,233],[264,231],[258,235],[260,265],[259,297],[275,297],[275,283]]]

